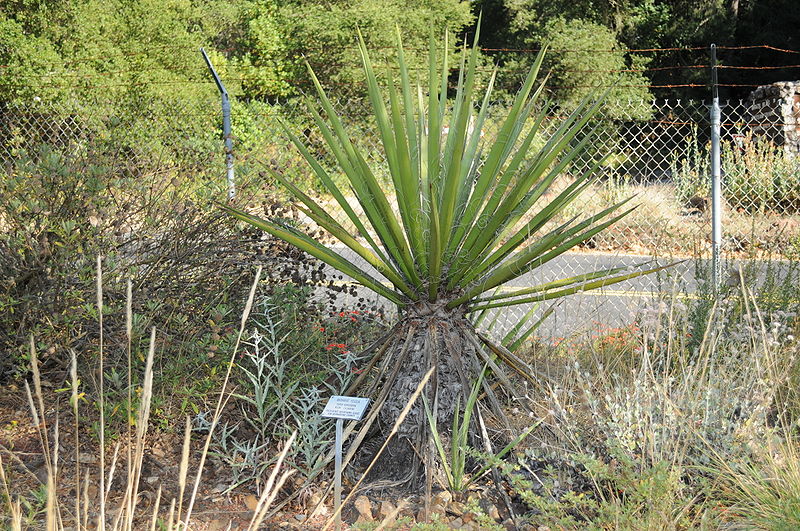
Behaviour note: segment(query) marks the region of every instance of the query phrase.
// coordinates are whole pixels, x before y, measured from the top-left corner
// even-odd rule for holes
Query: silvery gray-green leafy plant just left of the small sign
[[[313,361],[300,359],[302,353],[293,349],[318,345],[293,342],[297,339],[292,337],[297,335],[293,328],[301,321],[283,313],[286,306],[279,307],[279,300],[265,299],[251,316],[249,338],[237,363],[242,384],[232,395],[239,401],[236,416],[241,420],[226,422],[214,435],[211,455],[232,473],[228,491],[247,483],[260,487],[273,465],[275,444],[292,432],[296,438],[287,464],[306,477],[316,473],[333,436],[333,423],[320,417],[325,397],[340,394],[357,374],[358,354],[335,349],[328,362],[321,361],[320,371],[333,377],[320,381],[309,376],[306,371]],[[195,418],[195,427],[208,430],[205,414]]]

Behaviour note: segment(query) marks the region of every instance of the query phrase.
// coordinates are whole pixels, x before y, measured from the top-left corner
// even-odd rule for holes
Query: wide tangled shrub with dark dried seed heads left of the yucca
[[[137,294],[134,337],[146,337],[152,326],[168,331],[156,358],[162,387],[153,413],[170,425],[178,414],[200,411],[219,379],[219,354],[231,346],[236,324],[231,307],[247,288],[254,260],[275,285],[325,278],[309,257],[285,252],[285,245],[212,210],[202,186],[182,180],[174,160],[159,166],[114,158],[106,147],[18,147],[4,167],[0,351],[7,355],[0,356],[0,382],[27,373],[31,335],[45,373],[63,371],[71,350],[84,353],[82,370],[96,366],[99,333],[92,323],[101,256],[106,376],[120,383],[109,386],[106,416],[125,422],[128,409],[127,386],[115,377],[127,363],[122,301],[130,280]],[[292,215],[272,199],[263,207]],[[134,363],[143,363],[146,347],[133,346]]]

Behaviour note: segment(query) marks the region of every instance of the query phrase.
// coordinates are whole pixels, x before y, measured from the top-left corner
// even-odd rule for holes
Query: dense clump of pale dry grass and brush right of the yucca
[[[797,321],[767,317],[740,285],[703,322],[673,297],[638,327],[541,349],[550,378],[530,395],[546,429],[527,455],[553,469],[533,470],[550,489],[528,493],[537,524],[570,521],[571,485],[572,514],[597,528],[795,529],[797,404],[782,389],[796,382]]]

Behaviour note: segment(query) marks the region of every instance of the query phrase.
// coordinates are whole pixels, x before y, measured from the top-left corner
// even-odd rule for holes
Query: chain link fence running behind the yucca
[[[771,105],[769,102],[759,102],[758,112],[749,101],[723,106],[723,253],[727,258],[792,258],[800,245],[800,157],[792,152],[784,134],[798,126],[791,113],[787,118],[780,110],[784,103],[774,101],[772,105],[779,110],[767,118],[763,109]],[[376,175],[389,182],[379,135],[366,106],[353,100],[336,102],[336,107]],[[639,208],[526,281],[647,260],[692,260],[660,275],[571,297],[548,321],[543,332],[548,335],[592,327],[598,321],[605,326],[621,326],[659,294],[675,290],[692,293],[700,289],[697,266],[704,267],[703,260],[710,256],[710,125],[706,104],[670,100],[616,107],[613,117],[601,115],[587,126],[594,129],[591,148],[572,163],[563,182],[556,186],[606,155],[596,184],[564,212],[564,217],[596,212],[632,195]],[[490,112],[485,141],[491,142],[497,133],[505,109],[498,102]],[[552,131],[562,117],[563,110],[549,110],[548,127],[539,141],[546,141],[548,130]],[[304,105],[296,101],[234,101],[232,121],[238,201],[261,209],[264,192],[274,187],[266,168],[289,176],[307,189],[316,187],[279,121],[303,138],[331,175],[344,182]],[[0,160],[7,173],[19,171],[21,161],[46,161],[56,152],[90,162],[91,171],[101,180],[158,181],[190,187],[201,199],[225,197],[217,101],[0,106]],[[496,326],[499,330],[507,328],[509,325],[503,322],[513,323],[527,310],[506,310]]]

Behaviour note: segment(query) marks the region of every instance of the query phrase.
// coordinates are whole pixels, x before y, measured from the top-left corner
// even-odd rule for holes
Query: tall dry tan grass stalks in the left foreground
[[[260,276],[260,270],[256,274],[256,279],[253,282],[253,286],[250,291],[250,296],[248,298],[248,302],[245,306],[245,309],[242,313],[241,319],[241,327],[239,330],[239,336],[237,339],[236,347],[233,349],[231,353],[231,360],[229,365],[229,373],[230,375],[230,368],[233,366],[233,359],[236,356],[236,352],[238,351],[238,345],[241,341],[242,334],[244,332],[245,323],[249,317],[250,309],[252,308],[252,301],[255,292],[255,287],[258,284]],[[97,282],[97,304],[98,307],[102,307],[103,304],[103,292],[102,292],[102,273],[100,269],[100,260],[98,259],[98,282]],[[131,297],[131,289],[128,289],[128,297]],[[131,333],[130,327],[130,299],[127,303],[128,308],[128,333]],[[102,313],[100,313],[102,315]],[[130,337],[129,337],[129,345],[130,345]],[[227,400],[230,392],[227,390],[228,378],[226,377],[225,382],[223,383],[222,389],[219,393],[219,400],[217,402],[217,408],[214,413],[214,422],[209,431],[206,443],[203,448],[203,451],[199,457],[199,462],[191,463],[190,462],[190,442],[191,442],[191,424],[189,419],[186,420],[186,427],[183,434],[183,445],[182,445],[182,452],[181,452],[181,461],[179,466],[179,478],[178,478],[178,485],[179,485],[179,493],[176,497],[172,497],[170,500],[162,500],[162,491],[161,487],[159,486],[158,492],[156,494],[155,500],[149,504],[143,504],[144,498],[139,495],[139,485],[141,484],[142,479],[142,470],[143,470],[143,463],[144,457],[147,449],[147,441],[148,441],[148,428],[150,423],[150,411],[152,406],[152,399],[153,399],[153,378],[154,378],[154,371],[153,371],[153,358],[155,354],[156,346],[156,329],[153,328],[150,334],[150,343],[149,349],[147,352],[146,364],[143,374],[143,384],[141,387],[141,395],[139,400],[139,408],[138,411],[135,412],[136,414],[136,430],[135,433],[132,433],[128,430],[127,434],[124,434],[124,437],[127,438],[126,447],[128,448],[128,455],[129,459],[126,460],[126,469],[127,469],[127,480],[124,484],[122,490],[123,495],[120,499],[118,499],[114,506],[109,509],[110,503],[110,490],[111,485],[114,483],[115,474],[117,474],[117,469],[120,466],[120,455],[119,455],[119,448],[121,441],[118,441],[115,445],[115,450],[113,457],[110,461],[109,466],[106,466],[106,459],[105,459],[105,438],[103,434],[106,431],[105,421],[102,416],[102,407],[101,407],[101,421],[99,426],[99,433],[100,433],[100,444],[98,445],[98,453],[100,455],[99,465],[96,470],[82,470],[80,468],[80,458],[78,455],[79,448],[80,448],[80,433],[81,427],[79,425],[80,419],[80,400],[79,400],[79,386],[80,381],[77,375],[77,361],[76,355],[72,353],[72,360],[71,360],[71,369],[70,369],[70,394],[71,394],[71,406],[72,406],[72,413],[74,417],[74,433],[75,433],[75,461],[76,461],[76,472],[75,472],[75,485],[74,485],[74,504],[62,504],[59,497],[56,494],[56,485],[62,480],[61,471],[59,469],[59,460],[62,457],[60,455],[60,435],[59,435],[59,417],[56,416],[55,426],[51,427],[48,426],[47,421],[47,409],[45,407],[45,399],[44,399],[44,392],[42,390],[42,382],[39,374],[39,362],[37,359],[37,352],[33,342],[33,338],[31,338],[30,344],[30,357],[31,357],[31,371],[33,375],[33,392],[31,392],[30,387],[28,386],[27,382],[25,383],[25,389],[27,393],[27,400],[28,406],[30,409],[30,414],[33,419],[33,426],[35,428],[36,434],[39,438],[39,442],[41,444],[41,448],[44,449],[43,457],[45,461],[45,468],[46,468],[46,507],[44,510],[44,514],[42,516],[43,522],[39,522],[43,524],[44,528],[48,531],[50,530],[66,530],[66,529],[73,529],[73,530],[80,530],[80,529],[99,529],[105,530],[110,529],[113,531],[121,531],[121,530],[133,530],[133,529],[150,529],[154,530],[157,526],[160,526],[160,529],[167,529],[167,530],[177,530],[177,529],[186,529],[189,527],[191,523],[192,517],[192,508],[194,507],[195,501],[197,499],[198,494],[198,486],[200,483],[200,478],[203,473],[203,467],[206,461],[206,457],[208,455],[208,447],[210,444],[210,438],[213,433],[214,428],[217,426],[219,421],[219,416],[222,411],[222,406],[224,402]],[[101,343],[102,349],[102,343]],[[99,374],[103,374],[102,372],[102,354],[99,356],[100,360],[100,368]],[[129,358],[130,359],[130,358]],[[129,372],[130,374],[130,372]],[[130,383],[130,376],[129,376],[129,383]],[[102,387],[101,387],[102,389]],[[102,392],[101,392],[101,400],[102,400]],[[128,402],[130,404],[130,402]],[[54,439],[50,439],[50,433],[54,434]],[[281,465],[283,463],[284,458],[286,457],[286,453],[291,446],[294,434],[286,441],[283,452],[279,455],[276,464],[273,467],[272,474],[269,477],[269,481],[267,482],[265,488],[261,493],[261,497],[258,501],[258,505],[253,512],[252,519],[250,522],[250,526],[248,529],[257,529],[258,526],[263,522],[264,517],[268,513],[270,509],[270,505],[275,500],[278,492],[283,487],[286,480],[291,476],[292,470],[280,472]],[[13,457],[13,454],[12,454]],[[185,487],[187,486],[187,479],[190,470],[194,469],[196,472],[196,479],[194,482],[193,490],[191,495],[188,497],[188,505],[186,510],[184,511],[184,501],[185,501]],[[89,495],[89,483],[90,477],[95,476],[99,478],[100,488],[97,491],[97,498],[94,499]],[[14,530],[21,530],[23,528],[27,528],[31,525],[36,525],[36,522],[27,521],[23,514],[23,509],[21,505],[21,501],[19,498],[15,498],[12,495],[9,481],[5,474],[5,468],[3,466],[2,460],[0,460],[0,486],[2,487],[2,492],[5,498],[6,509],[8,511],[8,519],[7,525],[11,529]],[[63,486],[63,485],[59,485]],[[162,510],[166,507],[166,504],[169,504],[169,509],[164,511]],[[94,507],[97,507],[97,511],[93,510]]]

